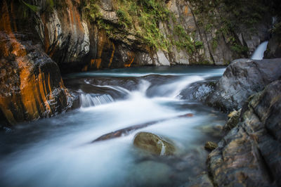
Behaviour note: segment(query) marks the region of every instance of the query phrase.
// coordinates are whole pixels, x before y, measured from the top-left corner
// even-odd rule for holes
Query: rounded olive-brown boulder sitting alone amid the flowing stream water
[[[136,134],[133,145],[155,155],[173,155],[176,150],[171,143],[149,132]]]

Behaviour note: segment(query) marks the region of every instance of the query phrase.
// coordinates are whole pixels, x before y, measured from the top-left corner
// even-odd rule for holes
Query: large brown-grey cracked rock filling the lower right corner
[[[251,97],[241,122],[208,157],[216,186],[280,186],[281,81]]]

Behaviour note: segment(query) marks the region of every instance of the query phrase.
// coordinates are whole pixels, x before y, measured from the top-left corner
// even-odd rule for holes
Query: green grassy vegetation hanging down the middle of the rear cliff
[[[162,0],[115,0],[114,11],[119,18],[117,24],[103,18],[98,0],[89,0],[84,9],[91,21],[96,22],[112,39],[133,34],[152,49],[169,51],[171,46],[176,46],[178,50],[185,49],[188,53],[193,53],[203,46],[201,41],[192,40],[192,36],[176,22],[174,13],[169,11]],[[169,25],[169,22],[174,25]],[[178,36],[176,41],[173,34],[166,36],[159,29],[162,23],[168,25],[169,32]]]

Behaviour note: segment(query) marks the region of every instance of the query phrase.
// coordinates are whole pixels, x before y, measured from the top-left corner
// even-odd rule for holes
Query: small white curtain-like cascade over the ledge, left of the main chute
[[[108,94],[81,93],[79,96],[81,108],[112,103],[114,99]]]

